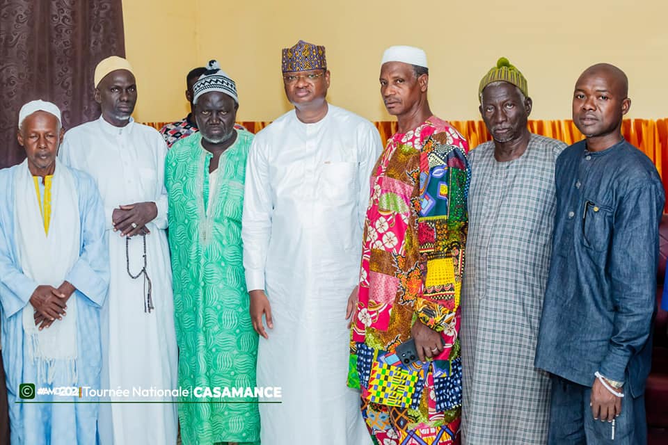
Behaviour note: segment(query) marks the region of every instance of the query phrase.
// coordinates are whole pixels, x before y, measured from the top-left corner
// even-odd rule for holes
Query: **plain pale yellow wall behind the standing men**
[[[392,44],[427,51],[431,108],[445,119],[479,118],[479,79],[500,56],[527,77],[534,119],[570,118],[575,79],[603,61],[628,74],[629,117],[668,116],[663,0],[125,0],[123,8],[140,121],[182,118],[184,76],[209,58],[237,81],[238,120],[273,120],[289,109],[280,49],[300,38],[326,46],[330,102],[369,120],[391,119],[378,73]]]

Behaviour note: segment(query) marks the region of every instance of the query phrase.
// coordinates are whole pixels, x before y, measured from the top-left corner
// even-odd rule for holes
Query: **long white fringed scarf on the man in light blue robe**
[[[15,175],[15,241],[19,266],[23,273],[38,284],[58,288],[74,263],[79,259],[79,201],[72,173],[56,160],[51,181],[51,220],[49,235],[44,231],[35,183],[28,161]],[[77,381],[77,298],[67,300],[67,314],[54,321],[51,327],[39,330],[35,326],[35,308],[28,303],[23,309],[23,328],[26,332],[28,357],[38,368],[38,380],[54,382],[56,369],[64,366],[68,383]]]

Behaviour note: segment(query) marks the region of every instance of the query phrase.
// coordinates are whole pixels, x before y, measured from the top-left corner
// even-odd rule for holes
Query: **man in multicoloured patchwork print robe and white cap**
[[[424,51],[385,51],[380,81],[399,131],[372,172],[349,385],[362,389],[375,444],[452,444],[461,410],[468,144],[429,109]],[[402,361],[396,349],[409,340],[416,359]]]

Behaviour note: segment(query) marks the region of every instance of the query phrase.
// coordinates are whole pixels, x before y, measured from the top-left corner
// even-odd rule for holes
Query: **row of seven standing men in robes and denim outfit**
[[[566,147],[528,131],[501,58],[478,91],[493,140],[469,152],[421,49],[383,54],[384,149],[328,104],[324,47],[283,49],[282,72],[294,109],[255,136],[215,60],[164,138],[132,120],[118,57],[95,70],[99,120],[21,109],[26,161],[0,170],[12,443],[175,444],[178,424],[184,444],[644,443],[665,196],[621,136],[626,75],[582,73]],[[24,382],[100,393],[19,403]],[[282,397],[102,394],[132,387]]]

